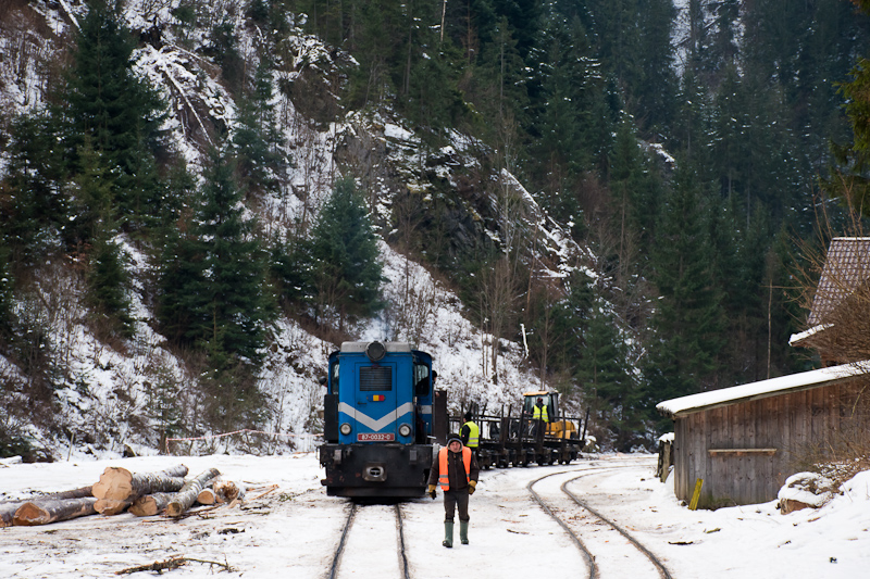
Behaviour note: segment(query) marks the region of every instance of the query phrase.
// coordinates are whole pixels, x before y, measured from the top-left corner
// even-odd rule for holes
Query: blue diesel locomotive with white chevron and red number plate
[[[433,442],[447,430],[435,376],[432,356],[406,342],[344,342],[330,354],[319,449],[328,495],[423,494]]]

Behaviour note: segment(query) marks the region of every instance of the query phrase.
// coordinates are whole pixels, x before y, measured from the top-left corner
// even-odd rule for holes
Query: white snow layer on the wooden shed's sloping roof
[[[759,382],[723,388],[711,392],[700,392],[688,397],[666,400],[664,402],[659,402],[658,405],[656,405],[656,410],[661,414],[675,417],[678,415],[692,414],[717,406],[725,406],[729,404],[736,404],[737,402],[783,394],[790,391],[807,390],[828,382],[868,374],[868,372],[870,372],[870,361],[858,362],[856,364],[843,364],[842,366],[831,366],[800,374],[792,374],[790,376],[780,376],[779,378],[770,378],[769,380],[761,380]]]

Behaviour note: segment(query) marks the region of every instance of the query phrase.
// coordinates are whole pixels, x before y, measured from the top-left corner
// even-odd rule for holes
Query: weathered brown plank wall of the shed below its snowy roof
[[[866,390],[866,391],[865,391]],[[699,506],[710,508],[776,499],[809,444],[822,448],[844,426],[868,431],[856,401],[870,397],[867,382],[834,382],[819,388],[696,412],[674,420],[674,491],[691,501],[704,479]],[[775,449],[766,453],[708,451]]]

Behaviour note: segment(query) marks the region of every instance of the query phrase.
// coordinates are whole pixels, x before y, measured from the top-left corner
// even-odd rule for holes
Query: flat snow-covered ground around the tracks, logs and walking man
[[[145,471],[179,463],[187,465],[191,475],[213,466],[225,478],[244,481],[249,488],[247,501],[241,507],[221,507],[177,521],[97,515],[44,527],[0,529],[0,575],[27,579],[114,577],[119,570],[178,555],[227,564],[234,569],[222,574],[227,577],[314,579],[327,575],[349,505],[345,499],[326,496],[313,454],[151,456],[0,466],[0,500],[90,484],[107,466]],[[457,544],[452,550],[440,546],[440,495],[436,501],[425,498],[405,503],[411,576],[583,577],[585,558],[526,490],[530,481],[544,475],[575,470],[583,476],[568,488],[644,543],[674,578],[867,577],[870,473],[847,482],[843,494],[819,509],[781,515],[775,502],[688,511],[655,477],[655,455],[601,455],[572,465],[483,471],[480,490],[471,499],[471,544]],[[566,477],[571,478],[566,475],[562,480]],[[272,484],[277,488],[258,499]],[[543,488],[543,482],[535,486]],[[547,494],[540,492],[546,500]],[[391,506],[361,507],[348,536],[339,577],[399,576],[394,521]],[[581,534],[591,549],[596,547],[595,532],[587,528]],[[607,555],[597,557],[601,577],[646,577],[627,558],[623,563],[620,557],[602,557]],[[219,569],[188,563],[167,572],[172,577],[206,577]]]

